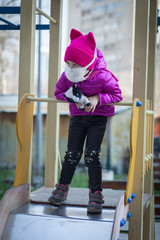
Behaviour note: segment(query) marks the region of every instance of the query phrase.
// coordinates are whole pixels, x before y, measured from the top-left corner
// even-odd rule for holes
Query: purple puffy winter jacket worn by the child
[[[123,98],[121,96],[121,90],[117,82],[118,79],[107,69],[104,57],[102,53],[97,49],[97,61],[92,73],[84,81],[78,82],[77,86],[87,97],[98,95],[99,104],[96,106],[96,109],[93,113],[88,113],[78,109],[74,103],[69,103],[70,114],[72,116],[113,116],[114,106],[106,104],[122,101]],[[72,85],[73,82],[69,81],[65,76],[65,72],[63,72],[56,84],[56,90],[54,93],[55,97],[59,100],[68,102],[63,95]]]

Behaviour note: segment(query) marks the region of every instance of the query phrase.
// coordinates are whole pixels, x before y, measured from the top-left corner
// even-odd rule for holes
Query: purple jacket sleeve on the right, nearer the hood
[[[99,106],[123,100],[118,79],[108,70],[103,84],[103,92],[99,93],[98,96]]]

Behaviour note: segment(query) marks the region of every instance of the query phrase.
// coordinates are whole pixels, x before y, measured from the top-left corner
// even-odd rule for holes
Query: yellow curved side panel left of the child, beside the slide
[[[28,183],[34,102],[27,103],[27,96],[28,94],[23,95],[17,111],[16,131],[20,150],[14,187]]]

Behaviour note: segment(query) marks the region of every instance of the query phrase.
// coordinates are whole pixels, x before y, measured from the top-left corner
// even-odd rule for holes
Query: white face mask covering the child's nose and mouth
[[[95,54],[94,54],[93,60],[86,67],[70,68],[68,66],[68,64],[66,64],[66,67],[65,67],[65,75],[66,75],[66,77],[71,82],[74,82],[74,83],[84,81],[87,77],[89,77],[89,75],[91,74],[92,70],[84,77],[85,71],[87,70],[87,68],[89,66],[92,65],[92,63],[95,61],[95,59],[96,59],[96,50],[95,50]]]

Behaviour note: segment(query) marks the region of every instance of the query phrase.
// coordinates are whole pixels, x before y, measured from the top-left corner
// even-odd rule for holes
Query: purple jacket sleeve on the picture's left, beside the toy
[[[69,86],[67,84],[67,79],[65,77],[65,73],[63,72],[56,84],[56,90],[54,92],[54,96],[59,100],[68,102],[67,99],[64,97],[64,94],[68,89],[69,89]]]

